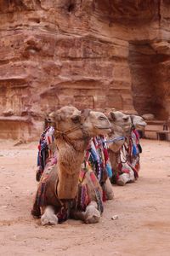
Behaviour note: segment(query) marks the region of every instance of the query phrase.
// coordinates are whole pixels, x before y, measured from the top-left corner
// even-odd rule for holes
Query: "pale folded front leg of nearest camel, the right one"
[[[91,201],[88,207],[86,207],[85,220],[84,220],[86,224],[94,224],[99,222],[100,213],[97,207],[98,206],[95,201]]]

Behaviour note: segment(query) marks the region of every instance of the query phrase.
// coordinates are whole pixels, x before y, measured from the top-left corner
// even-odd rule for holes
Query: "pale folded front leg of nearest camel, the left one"
[[[42,225],[54,225],[58,224],[58,218],[54,214],[54,207],[48,206],[41,217]]]

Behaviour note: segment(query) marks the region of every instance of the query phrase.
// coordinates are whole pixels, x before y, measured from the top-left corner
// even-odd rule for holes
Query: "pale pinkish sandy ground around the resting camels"
[[[37,143],[0,142],[0,255],[170,255],[170,143],[142,140],[136,183],[113,186],[99,224],[31,218]],[[112,220],[113,215],[118,215]]]

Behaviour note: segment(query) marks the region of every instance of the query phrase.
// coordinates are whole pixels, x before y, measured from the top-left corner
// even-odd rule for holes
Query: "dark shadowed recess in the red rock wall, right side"
[[[139,114],[154,113],[157,119],[167,119],[159,72],[160,63],[165,58],[165,55],[152,51],[149,42],[130,44],[128,61],[132,76],[133,105]]]

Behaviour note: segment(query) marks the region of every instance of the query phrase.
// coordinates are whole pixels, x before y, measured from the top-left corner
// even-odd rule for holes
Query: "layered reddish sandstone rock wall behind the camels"
[[[1,137],[69,103],[167,116],[169,23],[168,0],[1,0]]]

